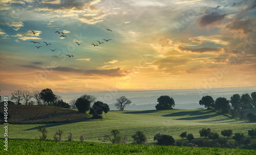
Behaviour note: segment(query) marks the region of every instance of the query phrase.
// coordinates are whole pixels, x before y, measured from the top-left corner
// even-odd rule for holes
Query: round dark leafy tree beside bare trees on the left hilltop
[[[40,92],[41,100],[44,101],[45,105],[53,105],[56,100],[56,95],[53,94],[52,90],[46,88]]]

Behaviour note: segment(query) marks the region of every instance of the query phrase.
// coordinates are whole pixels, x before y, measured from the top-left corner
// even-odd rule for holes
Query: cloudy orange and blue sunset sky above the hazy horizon
[[[256,86],[255,0],[3,0],[0,11],[1,94]]]

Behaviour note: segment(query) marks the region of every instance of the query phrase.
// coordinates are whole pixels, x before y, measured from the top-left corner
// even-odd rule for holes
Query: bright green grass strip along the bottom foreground
[[[256,154],[245,149],[38,140],[9,140],[8,145],[8,154]],[[7,154],[3,145],[0,152]]]

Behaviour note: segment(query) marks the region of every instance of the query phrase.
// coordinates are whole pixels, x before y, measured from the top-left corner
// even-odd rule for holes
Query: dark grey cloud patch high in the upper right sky
[[[201,28],[204,28],[207,25],[214,24],[217,21],[224,19],[226,15],[227,13],[219,14],[218,12],[212,12],[210,14],[204,15],[201,18],[199,18],[199,26]]]

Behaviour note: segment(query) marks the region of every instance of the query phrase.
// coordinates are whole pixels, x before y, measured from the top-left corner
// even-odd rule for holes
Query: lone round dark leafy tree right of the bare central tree
[[[157,110],[167,110],[167,109],[173,109],[173,106],[175,106],[174,99],[169,96],[160,96],[157,99],[158,104],[156,105]]]

